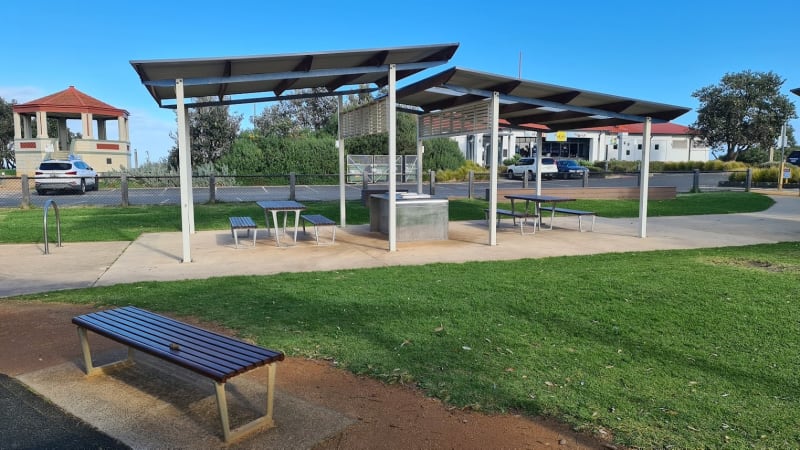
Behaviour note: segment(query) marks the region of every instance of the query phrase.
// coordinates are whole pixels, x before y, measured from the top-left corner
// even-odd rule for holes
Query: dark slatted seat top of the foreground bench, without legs
[[[135,307],[85,314],[72,322],[220,382],[284,358],[280,352]],[[172,350],[171,343],[180,350]]]

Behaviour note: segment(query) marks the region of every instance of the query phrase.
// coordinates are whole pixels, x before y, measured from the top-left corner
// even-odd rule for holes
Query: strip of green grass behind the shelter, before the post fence
[[[762,211],[774,203],[767,196],[745,192],[716,192],[683,194],[675,200],[648,203],[648,215],[727,214],[732,212]],[[307,202],[307,212],[322,214],[340,222],[338,202]],[[484,200],[458,199],[450,201],[450,220],[478,220],[484,218]],[[499,203],[510,209],[510,203]],[[369,210],[360,201],[346,205],[347,223],[369,223]],[[570,208],[597,212],[601,217],[637,217],[638,200],[578,200]],[[228,217],[250,216],[264,224],[264,213],[255,203],[216,203],[195,206],[197,230],[223,230],[228,228]],[[69,242],[132,241],[142,233],[180,231],[181,212],[178,206],[74,207],[61,208],[61,232]],[[55,230],[55,215],[51,212],[49,223]],[[49,233],[55,236],[55,231]],[[42,242],[42,210],[18,208],[0,209],[0,243]]]

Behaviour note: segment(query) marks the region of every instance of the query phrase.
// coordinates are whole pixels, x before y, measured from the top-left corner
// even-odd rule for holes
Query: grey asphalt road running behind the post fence
[[[703,173],[700,176],[701,191],[718,190],[719,181],[727,180],[728,173]],[[607,178],[589,178],[588,186],[592,187],[620,187],[636,186],[638,177],[636,175],[614,175]],[[0,189],[0,207],[14,208],[19,207],[22,194],[18,188],[11,188],[9,185],[13,180],[4,180],[3,188]],[[583,180],[543,180],[542,187],[576,187],[581,186]],[[651,186],[675,186],[678,192],[689,192],[692,189],[693,174],[657,173],[651,175]],[[498,179],[498,188],[518,188],[522,187],[521,180]],[[533,187],[535,181],[530,181],[529,186]],[[475,182],[472,187],[474,198],[484,198],[486,189],[489,187],[487,181]],[[399,188],[415,191],[414,184],[398,184]],[[437,183],[434,195],[442,197],[467,197],[469,185],[466,182]],[[430,184],[423,184],[423,191],[430,193]],[[345,196],[348,200],[358,200],[361,198],[361,184],[349,184],[345,188]],[[258,200],[286,200],[289,196],[288,186],[234,186],[217,187],[216,200],[220,202],[255,202]],[[40,196],[36,192],[31,193],[31,204],[41,207],[44,202],[52,198],[62,206],[114,206],[122,203],[122,195],[119,189],[102,189],[97,192],[87,192],[83,195],[78,194],[48,194]],[[195,203],[205,203],[209,200],[209,189],[207,187],[194,188]],[[339,187],[331,185],[297,185],[295,187],[295,199],[298,201],[330,201],[339,199]],[[180,203],[180,190],[176,187],[165,188],[140,188],[130,189],[128,192],[128,202],[131,205],[178,205]]]

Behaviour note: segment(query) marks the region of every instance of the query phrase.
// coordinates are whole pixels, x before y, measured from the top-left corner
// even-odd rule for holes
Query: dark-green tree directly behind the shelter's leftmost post
[[[199,98],[197,102],[213,101],[213,98]],[[228,153],[242,123],[241,114],[230,114],[227,105],[201,106],[192,108],[188,114],[189,139],[192,165],[217,162]],[[175,146],[170,151],[168,162],[178,167],[178,136],[171,134]]]

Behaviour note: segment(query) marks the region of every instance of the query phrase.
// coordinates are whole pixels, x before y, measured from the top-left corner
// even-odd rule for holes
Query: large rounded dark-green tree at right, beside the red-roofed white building
[[[796,116],[794,104],[780,93],[784,80],[773,72],[728,73],[720,84],[692,96],[700,101],[693,127],[712,148],[735,161],[751,147],[771,148],[781,125]]]

